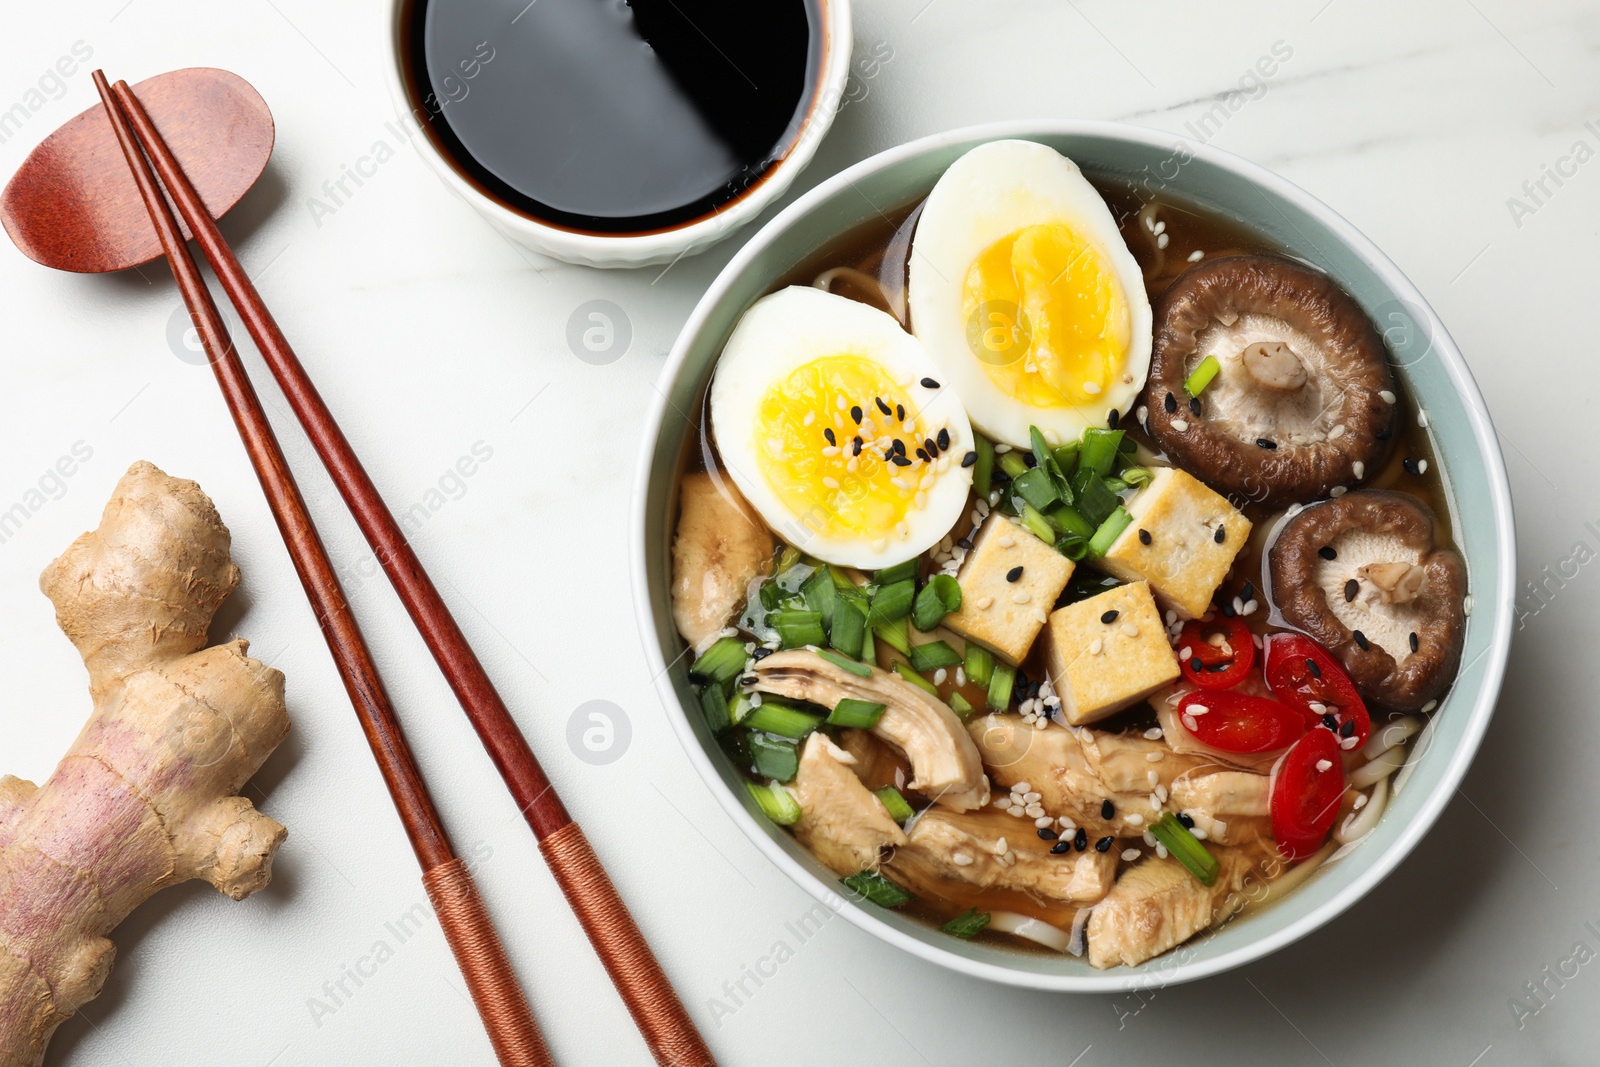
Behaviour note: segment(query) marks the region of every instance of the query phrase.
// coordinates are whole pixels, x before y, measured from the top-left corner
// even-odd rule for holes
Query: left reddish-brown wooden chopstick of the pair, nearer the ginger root
[[[117,142],[128,160],[128,170],[133,171],[139,195],[150,213],[150,222],[160,235],[184,304],[187,304],[200,333],[211,370],[222,387],[234,424],[243,438],[245,451],[256,469],[256,478],[267,496],[267,506],[272,509],[272,517],[278,523],[285,545],[288,545],[294,569],[310,598],[317,622],[322,625],[334,664],[339,667],[339,677],[344,680],[357,718],[366,733],[366,742],[373,749],[384,784],[400,813],[400,822],[405,825],[411,848],[422,865],[422,885],[427,888],[429,899],[438,913],[440,928],[461,965],[461,973],[483,1017],[494,1053],[499,1062],[507,1067],[554,1067],[499,934],[472,885],[470,873],[450,845],[438,809],[427,793],[422,773],[416,766],[400,721],[384,693],[378,667],[355,616],[350,613],[350,605],[339,587],[333,565],[328,561],[322,537],[306,510],[306,501],[283,458],[272,424],[261,408],[261,398],[250,384],[245,365],[234,349],[227,325],[200,277],[200,269],[189,253],[189,245],[184,243],[171,208],[162,198],[155,176],[139,150],[117,98],[106,83],[106,75],[96,70],[93,77],[94,88],[99,90],[101,101],[106,104],[106,114],[110,117],[110,125],[117,131]],[[146,117],[147,122],[149,117]],[[210,219],[210,214],[206,218]]]

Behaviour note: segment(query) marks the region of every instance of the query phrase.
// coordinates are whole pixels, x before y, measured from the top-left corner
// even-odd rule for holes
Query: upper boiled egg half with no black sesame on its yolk
[[[1144,275],[1101,195],[1043,144],[992,141],[944,171],[909,288],[917,339],[995,440],[1074,440],[1144,387]]]

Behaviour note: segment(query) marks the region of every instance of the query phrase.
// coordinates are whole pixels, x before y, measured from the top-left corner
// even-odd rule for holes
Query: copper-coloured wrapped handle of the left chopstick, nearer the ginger
[[[422,888],[434,902],[501,1067],[554,1067],[467,865],[461,859],[438,864],[422,875]]]

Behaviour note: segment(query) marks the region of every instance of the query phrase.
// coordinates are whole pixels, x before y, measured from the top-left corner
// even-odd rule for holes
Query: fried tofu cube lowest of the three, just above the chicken
[[[1146,582],[1107,589],[1051,613],[1045,662],[1074,726],[1138,704],[1179,673]]]

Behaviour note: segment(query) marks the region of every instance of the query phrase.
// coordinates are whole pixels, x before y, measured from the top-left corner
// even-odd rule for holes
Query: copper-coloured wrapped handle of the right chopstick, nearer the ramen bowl
[[[539,841],[557,885],[661,1067],[715,1067],[710,1049],[576,822]]]

